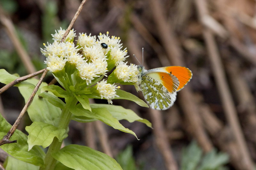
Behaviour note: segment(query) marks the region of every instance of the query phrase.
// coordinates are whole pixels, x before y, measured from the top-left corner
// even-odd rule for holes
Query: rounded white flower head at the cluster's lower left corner
[[[46,63],[47,65],[47,70],[56,73],[60,70],[62,70],[65,66],[67,62],[66,58],[63,57],[58,57],[56,55],[49,55],[46,58],[46,61],[44,61],[44,63]]]

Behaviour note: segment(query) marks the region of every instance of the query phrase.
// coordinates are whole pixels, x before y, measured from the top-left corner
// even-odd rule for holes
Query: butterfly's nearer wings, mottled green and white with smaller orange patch
[[[142,76],[141,91],[151,108],[166,110],[176,100],[179,80],[165,72],[148,72]]]

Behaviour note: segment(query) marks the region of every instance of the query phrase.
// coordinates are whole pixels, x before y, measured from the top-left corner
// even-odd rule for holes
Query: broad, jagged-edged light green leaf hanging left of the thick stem
[[[44,122],[33,122],[30,126],[26,126],[26,131],[28,132],[28,151],[34,145],[46,148],[52,143],[54,137],[57,137],[60,142],[68,137],[65,129],[59,129]]]

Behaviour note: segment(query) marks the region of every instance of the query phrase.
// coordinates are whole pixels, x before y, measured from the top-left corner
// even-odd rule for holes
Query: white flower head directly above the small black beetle
[[[100,35],[98,35],[98,42],[99,43],[106,43],[108,45],[108,47],[118,47],[118,48],[122,48],[122,44],[120,44],[121,40],[120,37],[116,37],[116,36],[111,36],[111,38],[108,36],[108,31],[107,31],[107,35],[100,33]]]

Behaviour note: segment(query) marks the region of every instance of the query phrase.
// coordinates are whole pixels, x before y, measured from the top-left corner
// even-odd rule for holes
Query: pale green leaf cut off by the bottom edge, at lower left
[[[21,161],[19,159],[8,156],[4,161],[5,170],[16,170],[16,169],[26,169],[26,170],[39,170],[39,166],[35,166],[28,162]]]

